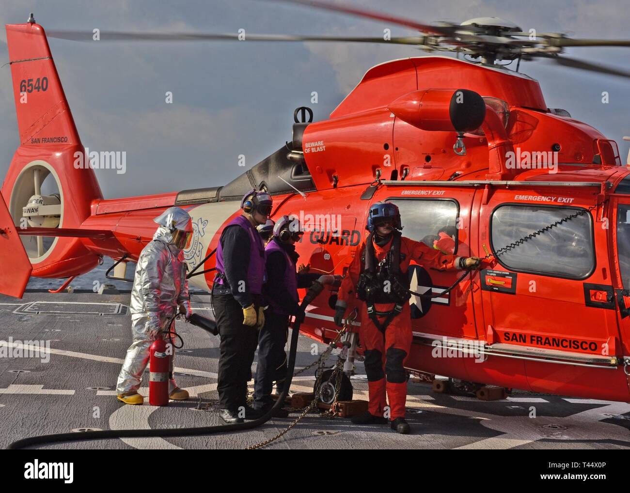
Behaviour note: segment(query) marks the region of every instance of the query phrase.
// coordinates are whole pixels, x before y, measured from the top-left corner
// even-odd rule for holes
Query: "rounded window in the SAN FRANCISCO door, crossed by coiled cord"
[[[579,215],[534,237],[534,232],[575,214],[575,208],[536,205],[501,205],[492,213],[493,251],[513,243],[498,255],[499,263],[523,271],[570,279],[587,278],[595,268],[593,225],[590,214]]]

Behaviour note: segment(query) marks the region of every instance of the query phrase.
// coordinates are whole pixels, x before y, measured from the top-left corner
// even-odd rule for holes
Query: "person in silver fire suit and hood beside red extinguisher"
[[[169,207],[154,221],[159,227],[153,241],[140,252],[131,290],[133,341],[116,387],[118,400],[125,404],[144,402],[138,388],[149,361],[149,348],[161,332],[168,332],[168,322],[178,307],[186,318],[192,314],[183,252],[193,233],[190,215],[179,207]],[[169,399],[188,399],[188,392],[177,387],[175,380],[169,382],[168,390]]]

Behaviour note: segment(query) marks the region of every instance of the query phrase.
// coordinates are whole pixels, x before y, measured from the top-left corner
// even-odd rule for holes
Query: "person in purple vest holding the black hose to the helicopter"
[[[258,337],[258,366],[256,366],[254,409],[264,414],[273,405],[271,397],[273,381],[282,385],[287,375],[287,354],[284,351],[289,332],[291,315],[304,320],[300,309],[298,288],[308,288],[320,274],[298,274],[295,270],[299,255],[295,242],[302,232],[295,217],[282,216],[273,227],[273,238],[265,248],[267,280],[263,288],[265,303],[265,326]],[[276,417],[287,417],[284,409]]]

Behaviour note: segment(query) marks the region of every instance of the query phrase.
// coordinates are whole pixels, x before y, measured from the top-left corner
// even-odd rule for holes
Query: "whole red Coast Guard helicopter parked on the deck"
[[[222,228],[253,187],[273,196],[272,218],[300,218],[305,234],[297,252],[312,272],[343,275],[367,235],[370,205],[388,200],[401,210],[405,236],[484,258],[481,271],[455,285],[455,273],[411,266],[411,374],[630,400],[630,171],[614,140],[568,111],[547,108],[537,81],[499,63],[542,57],[630,77],[562,56],[564,47],[630,42],[554,33],[532,39],[496,18],[425,25],[337,4],[291,3],[423,35],[248,38],[399,43],[467,59],[411,57],[372,67],[327,120],[312,122],[309,108],[295,110],[292,140],[224,186],[105,199],[88,161],[77,162],[85,149],[42,26],[32,14],[25,24],[7,25],[20,146],[1,190],[0,292],[21,297],[31,275],[68,278],[67,285],[105,256],[115,260],[108,276],[113,270],[112,278],[124,278],[127,262],[151,241],[152,218],[173,205],[193,218],[185,251],[190,283],[210,291]],[[42,195],[45,180],[54,193]],[[338,336],[335,299],[325,290],[311,303],[304,334],[324,343]],[[346,378],[362,353],[359,325],[350,322],[343,339]]]

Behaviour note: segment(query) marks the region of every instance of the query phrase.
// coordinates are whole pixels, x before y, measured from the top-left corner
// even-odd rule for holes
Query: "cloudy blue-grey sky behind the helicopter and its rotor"
[[[522,30],[571,37],[630,38],[625,0],[344,0],[345,4],[423,23],[498,16]],[[45,30],[279,33],[382,37],[415,31],[382,21],[266,0],[79,2],[0,0],[0,22],[33,12]],[[127,152],[125,174],[96,170],[106,198],[220,186],[291,139],[293,110],[329,113],[373,65],[425,55],[413,47],[357,43],[71,42],[49,39],[83,145]],[[566,55],[630,70],[630,48],[571,48]],[[8,62],[0,30],[0,65]],[[630,79],[523,62],[550,108],[571,115],[620,145],[630,135]],[[0,69],[0,174],[18,146],[9,65]],[[165,102],[166,92],[173,104]],[[311,93],[318,103],[311,103]],[[602,103],[602,92],[609,103]]]

